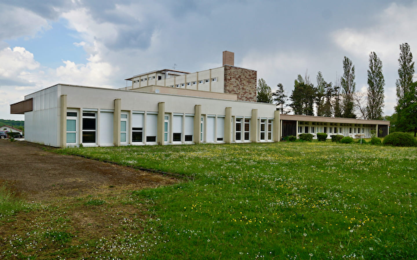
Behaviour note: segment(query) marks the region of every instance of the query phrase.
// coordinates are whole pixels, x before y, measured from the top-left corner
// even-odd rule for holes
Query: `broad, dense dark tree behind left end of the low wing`
[[[303,79],[301,75],[298,75],[294,81],[294,90],[289,97],[292,101],[290,104],[296,115],[313,115],[314,99],[316,97],[316,89],[314,85],[310,83],[309,77]]]

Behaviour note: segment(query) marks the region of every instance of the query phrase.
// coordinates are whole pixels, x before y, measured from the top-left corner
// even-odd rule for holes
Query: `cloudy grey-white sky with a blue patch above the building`
[[[57,83],[126,87],[154,69],[221,67],[224,50],[288,96],[298,74],[335,82],[345,56],[365,92],[376,52],[391,115],[399,45],[417,55],[416,13],[417,0],[0,0],[0,119],[24,120],[10,104]]]

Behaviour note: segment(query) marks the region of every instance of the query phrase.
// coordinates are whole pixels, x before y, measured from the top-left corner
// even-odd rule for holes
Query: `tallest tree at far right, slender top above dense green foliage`
[[[407,43],[399,45],[399,69],[396,85],[398,102],[396,128],[399,131],[414,131],[417,133],[417,82],[412,82],[414,62],[410,47]]]

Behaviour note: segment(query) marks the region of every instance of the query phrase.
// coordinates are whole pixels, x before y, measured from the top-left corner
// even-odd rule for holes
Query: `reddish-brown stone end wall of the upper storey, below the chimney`
[[[237,100],[256,102],[256,70],[225,65],[224,93],[237,94]]]

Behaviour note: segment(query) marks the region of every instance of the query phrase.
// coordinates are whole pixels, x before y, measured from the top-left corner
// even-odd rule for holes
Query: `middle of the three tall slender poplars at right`
[[[366,119],[382,119],[384,85],[385,80],[382,74],[382,62],[375,52],[371,52],[369,54]]]

